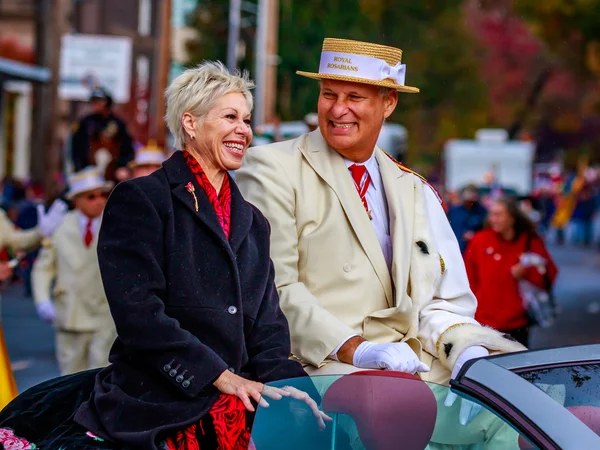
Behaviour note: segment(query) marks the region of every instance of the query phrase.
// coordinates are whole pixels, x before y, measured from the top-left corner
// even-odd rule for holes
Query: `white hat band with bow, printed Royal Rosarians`
[[[365,80],[383,81],[390,79],[404,86],[406,64],[390,66],[383,59],[366,55],[341,52],[322,52],[319,64],[320,75],[343,75]]]

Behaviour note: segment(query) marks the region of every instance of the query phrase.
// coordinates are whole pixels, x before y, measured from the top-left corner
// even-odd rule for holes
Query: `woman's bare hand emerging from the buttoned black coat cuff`
[[[251,399],[254,399],[259,406],[268,408],[269,404],[264,397],[268,397],[272,400],[281,400],[282,397],[290,396],[290,394],[283,389],[265,386],[256,381],[246,380],[239,375],[231,373],[229,370],[223,372],[213,385],[223,394],[235,395],[238,397],[244,403],[246,409],[252,412],[254,412],[255,409],[254,406],[252,406]]]

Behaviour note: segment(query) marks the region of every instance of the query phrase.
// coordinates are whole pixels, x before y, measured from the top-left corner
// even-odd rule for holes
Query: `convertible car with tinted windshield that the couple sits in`
[[[255,418],[256,449],[600,449],[600,345],[473,360],[451,388],[387,371],[310,381],[333,420],[321,430],[301,402],[271,402]]]

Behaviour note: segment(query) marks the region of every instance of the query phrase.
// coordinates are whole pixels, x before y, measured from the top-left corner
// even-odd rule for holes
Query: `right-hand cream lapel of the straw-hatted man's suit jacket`
[[[413,228],[414,185],[413,179],[402,172],[396,164],[381,151],[375,149],[379,163],[381,180],[387,197],[390,215],[390,238],[392,239],[392,278],[398,290],[407,284],[403,261],[410,260]],[[398,294],[396,294],[398,298]],[[395,306],[398,306],[397,304]]]

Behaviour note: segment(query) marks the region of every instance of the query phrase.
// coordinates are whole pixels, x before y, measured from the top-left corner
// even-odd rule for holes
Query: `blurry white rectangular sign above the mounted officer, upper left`
[[[61,39],[60,86],[64,100],[88,100],[93,87],[106,89],[115,103],[129,102],[130,38],[67,34]]]

